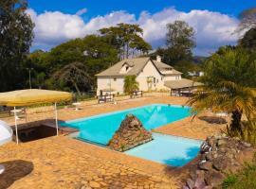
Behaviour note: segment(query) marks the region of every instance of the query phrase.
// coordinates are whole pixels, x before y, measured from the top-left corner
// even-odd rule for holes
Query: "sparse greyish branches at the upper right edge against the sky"
[[[239,15],[240,24],[237,31],[244,31],[256,28],[256,8],[250,8],[242,11]]]

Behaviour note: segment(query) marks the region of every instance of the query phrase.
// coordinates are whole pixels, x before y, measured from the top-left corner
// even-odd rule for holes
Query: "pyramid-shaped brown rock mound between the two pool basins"
[[[128,114],[107,146],[117,151],[126,151],[152,140],[152,133],[144,129],[135,115]]]

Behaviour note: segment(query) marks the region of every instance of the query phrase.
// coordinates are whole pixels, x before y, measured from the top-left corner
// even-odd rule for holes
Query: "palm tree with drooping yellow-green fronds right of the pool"
[[[248,120],[256,112],[256,58],[242,49],[225,49],[207,61],[204,86],[192,95],[189,104],[195,112],[229,112],[229,133],[242,132],[242,115]]]

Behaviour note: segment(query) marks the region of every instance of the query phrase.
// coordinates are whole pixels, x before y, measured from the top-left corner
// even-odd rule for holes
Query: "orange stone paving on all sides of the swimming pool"
[[[143,97],[114,104],[82,103],[82,110],[67,108],[59,111],[60,120],[72,120],[105,112],[164,103],[185,105],[185,97]],[[27,120],[50,119],[53,112],[37,112]],[[219,133],[226,124],[212,124],[200,118],[186,118],[155,129],[156,132],[205,139]],[[11,118],[6,119],[13,124]],[[25,120],[19,120],[20,123]],[[0,147],[1,163],[7,171],[0,175],[0,188],[178,188],[187,169],[169,167],[101,146],[94,146],[66,136],[49,137]]]

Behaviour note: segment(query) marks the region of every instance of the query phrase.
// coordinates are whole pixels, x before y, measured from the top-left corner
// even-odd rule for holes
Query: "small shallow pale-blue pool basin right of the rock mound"
[[[183,166],[196,157],[202,144],[197,140],[157,133],[153,134],[153,138],[153,141],[124,153],[157,163]]]

